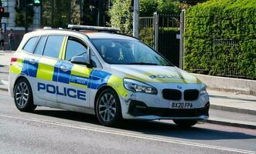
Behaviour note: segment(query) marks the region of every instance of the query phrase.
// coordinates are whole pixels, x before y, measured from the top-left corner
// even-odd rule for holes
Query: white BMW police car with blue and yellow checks
[[[205,84],[116,28],[69,25],[24,35],[12,56],[9,92],[16,107],[49,106],[121,119],[172,119],[193,126],[208,118]]]

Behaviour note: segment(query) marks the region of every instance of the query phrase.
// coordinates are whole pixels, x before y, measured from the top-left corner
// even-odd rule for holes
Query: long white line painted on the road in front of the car
[[[249,151],[249,150],[244,150],[244,149],[233,149],[233,148],[227,148],[227,147],[222,147],[222,146],[211,146],[211,145],[207,145],[207,144],[186,142],[186,141],[181,141],[181,140],[177,140],[177,139],[166,139],[166,138],[157,137],[157,136],[145,136],[145,135],[133,134],[133,133],[129,133],[129,132],[120,132],[120,131],[108,130],[108,129],[98,129],[98,128],[88,127],[88,126],[75,126],[75,125],[68,124],[68,123],[51,122],[51,121],[47,121],[47,120],[43,120],[43,119],[24,119],[24,118],[15,117],[12,115],[0,115],[0,116],[6,117],[6,118],[11,118],[11,119],[20,119],[20,120],[25,120],[25,121],[31,121],[31,122],[41,122],[41,123],[45,123],[45,124],[49,124],[49,125],[63,126],[63,127],[68,127],[68,128],[72,128],[72,129],[84,129],[87,131],[102,132],[102,133],[113,134],[113,135],[117,135],[117,136],[128,136],[128,137],[133,137],[133,138],[137,138],[137,139],[148,139],[148,140],[158,141],[158,142],[169,142],[169,143],[174,143],[174,144],[179,144],[179,145],[196,146],[196,147],[208,148],[208,149],[218,149],[218,150],[223,150],[223,151],[228,151],[228,152],[256,154],[256,152],[254,152],[254,151]]]

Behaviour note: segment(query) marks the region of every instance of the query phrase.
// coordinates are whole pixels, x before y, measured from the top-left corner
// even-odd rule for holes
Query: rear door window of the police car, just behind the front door
[[[59,58],[59,53],[64,36],[52,35],[49,36],[46,41],[46,47],[44,49],[43,55],[53,58]]]

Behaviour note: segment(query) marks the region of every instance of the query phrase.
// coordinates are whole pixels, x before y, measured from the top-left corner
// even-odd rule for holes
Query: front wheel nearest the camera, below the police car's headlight
[[[113,89],[104,89],[97,97],[95,114],[103,126],[118,126],[121,123],[121,104]]]

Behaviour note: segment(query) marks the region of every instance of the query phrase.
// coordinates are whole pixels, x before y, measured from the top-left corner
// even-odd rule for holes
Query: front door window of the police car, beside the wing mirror
[[[87,46],[79,39],[68,39],[65,60],[70,61],[74,56],[80,55],[83,55],[86,58]]]

